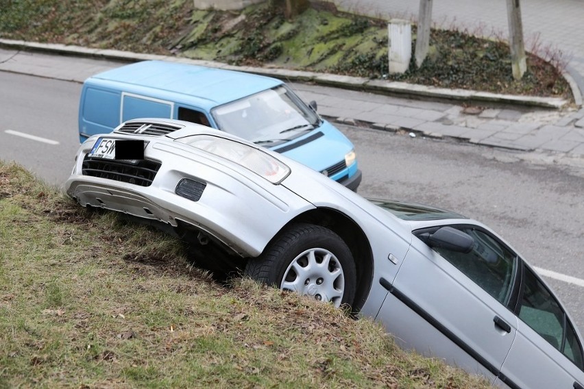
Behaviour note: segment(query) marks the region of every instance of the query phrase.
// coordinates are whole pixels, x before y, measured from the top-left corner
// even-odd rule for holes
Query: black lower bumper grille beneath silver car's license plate
[[[151,160],[103,160],[85,157],[82,173],[139,186],[150,186],[162,164]]]

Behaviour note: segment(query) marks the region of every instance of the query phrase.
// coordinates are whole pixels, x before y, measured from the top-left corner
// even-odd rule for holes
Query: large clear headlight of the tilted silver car
[[[272,184],[280,184],[282,179],[290,174],[290,168],[287,165],[268,153],[233,140],[210,135],[195,135],[176,141],[239,164]]]

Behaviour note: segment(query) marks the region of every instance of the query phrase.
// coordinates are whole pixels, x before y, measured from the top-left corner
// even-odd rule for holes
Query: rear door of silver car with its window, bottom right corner
[[[536,273],[524,265],[518,334],[502,373],[520,388],[584,389],[582,345],[570,318]]]

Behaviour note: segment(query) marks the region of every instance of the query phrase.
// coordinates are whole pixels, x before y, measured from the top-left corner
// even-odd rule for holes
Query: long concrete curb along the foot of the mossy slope
[[[246,71],[248,73],[256,73],[259,75],[267,75],[269,77],[283,79],[284,81],[313,82],[315,84],[324,86],[364,90],[385,95],[400,95],[401,97],[410,97],[413,99],[435,99],[447,101],[464,101],[466,103],[472,102],[518,105],[524,107],[546,108],[551,110],[559,110],[570,104],[569,101],[557,97],[499,95],[490,92],[478,92],[476,90],[436,88],[433,86],[407,84],[405,82],[398,81],[383,81],[380,79],[334,75],[330,73],[294,71],[269,67],[258,68],[254,66],[232,66],[229,64],[223,64],[221,62],[190,60],[188,58],[180,58],[172,55],[132,53],[131,51],[120,51],[112,49],[90,49],[87,47],[74,45],[62,45],[60,43],[38,43],[26,42],[23,40],[0,39],[0,47],[8,47],[10,49],[27,51],[48,51],[51,53],[81,55],[125,62],[135,62],[139,60],[165,60],[173,62],[184,62],[201,66]],[[582,95],[578,84],[576,84],[574,78],[566,72],[563,73],[563,77],[566,79],[566,81],[568,81],[568,84],[572,89],[574,102],[580,107],[582,105]]]

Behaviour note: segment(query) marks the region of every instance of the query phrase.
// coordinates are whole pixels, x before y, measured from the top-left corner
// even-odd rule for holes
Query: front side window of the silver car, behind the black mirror
[[[470,253],[440,248],[435,248],[435,251],[497,301],[507,305],[513,288],[517,256],[484,231],[457,229],[474,238],[474,247]]]

